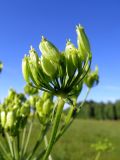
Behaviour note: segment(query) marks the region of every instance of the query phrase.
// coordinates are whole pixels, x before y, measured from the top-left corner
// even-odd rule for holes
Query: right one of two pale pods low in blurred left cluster
[[[5,129],[11,128],[14,125],[15,118],[16,116],[14,111],[9,111],[7,113]]]

